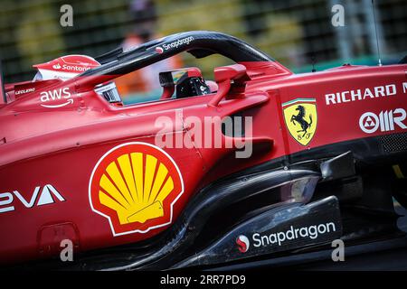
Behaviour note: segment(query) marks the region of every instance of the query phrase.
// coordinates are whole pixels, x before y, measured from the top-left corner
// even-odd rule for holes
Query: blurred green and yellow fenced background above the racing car
[[[140,0],[141,3],[143,0]],[[138,4],[140,4],[138,1]],[[371,0],[156,0],[155,33],[189,30],[230,33],[267,52],[296,72],[313,62],[323,70],[345,62],[374,64],[376,44]],[[73,7],[73,26],[62,27],[60,7]],[[0,57],[5,82],[32,79],[32,65],[64,54],[97,56],[118,47],[137,29],[130,0],[2,0]],[[345,26],[331,24],[333,5],[345,7]],[[407,1],[375,1],[384,63],[399,61],[407,51]],[[211,77],[224,63],[216,56],[197,62],[187,53],[185,66],[199,66]]]

